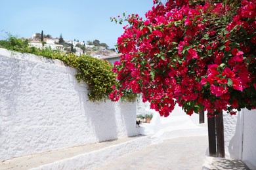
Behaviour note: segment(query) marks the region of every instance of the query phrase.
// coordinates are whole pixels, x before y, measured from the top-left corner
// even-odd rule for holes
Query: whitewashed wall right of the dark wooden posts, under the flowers
[[[256,110],[242,109],[236,116],[224,114],[226,158],[244,161],[256,169]]]

